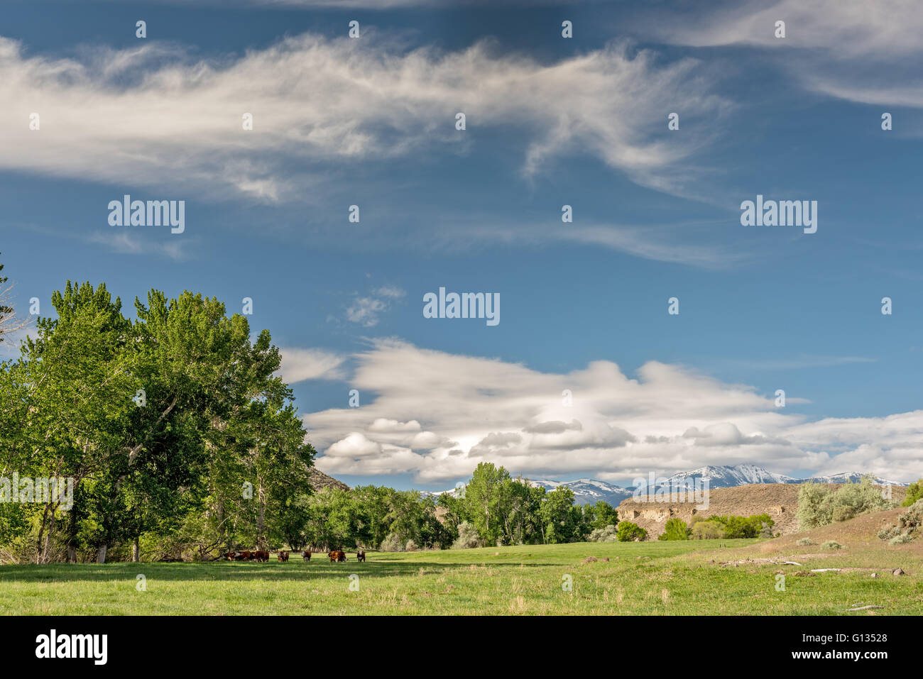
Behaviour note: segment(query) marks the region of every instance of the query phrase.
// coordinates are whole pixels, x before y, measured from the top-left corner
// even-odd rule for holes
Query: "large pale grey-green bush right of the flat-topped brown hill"
[[[844,483],[836,489],[828,484],[803,483],[798,489],[798,529],[826,526],[833,521],[845,521],[893,506],[870,476],[864,476],[858,483]]]

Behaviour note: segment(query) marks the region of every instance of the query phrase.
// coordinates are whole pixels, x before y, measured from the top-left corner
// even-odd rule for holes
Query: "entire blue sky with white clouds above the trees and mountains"
[[[19,308],[67,279],[253,298],[351,484],[923,473],[913,3],[230,5],[6,4]],[[125,194],[186,231],[110,226]],[[817,232],[742,226],[757,194]],[[499,293],[499,325],[425,318],[439,287]]]

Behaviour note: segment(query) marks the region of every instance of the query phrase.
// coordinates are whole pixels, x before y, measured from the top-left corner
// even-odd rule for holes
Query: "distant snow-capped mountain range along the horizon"
[[[662,477],[657,477],[655,482],[659,482]],[[842,474],[833,474],[833,476],[811,476],[807,479],[797,479],[794,476],[785,476],[785,474],[776,474],[773,471],[764,470],[752,464],[738,464],[736,466],[724,465],[707,465],[692,471],[680,471],[673,476],[667,477],[667,481],[673,488],[692,488],[693,483],[698,479],[708,479],[709,488],[730,488],[736,485],[746,485],[748,483],[847,483],[859,482],[862,479],[862,473],[858,471],[847,471]],[[881,485],[906,485],[905,482],[889,481],[876,476],[875,482]],[[604,500],[612,506],[617,506],[622,500],[631,497],[634,488],[622,488],[613,483],[599,481],[598,479],[577,479],[576,481],[554,481],[552,479],[530,479],[529,483],[535,486],[542,486],[547,491],[553,491],[561,485],[566,485],[574,492],[574,501],[578,505],[589,505]],[[424,495],[440,495],[442,493],[457,494],[458,489],[453,488],[440,493],[423,492]]]

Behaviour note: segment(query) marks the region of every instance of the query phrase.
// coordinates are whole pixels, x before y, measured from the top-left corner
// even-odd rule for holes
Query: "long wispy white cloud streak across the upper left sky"
[[[492,42],[407,51],[374,30],[210,59],[153,41],[53,58],[0,38],[0,100],[14,102],[0,109],[0,168],[278,201],[303,196],[337,163],[461,148],[463,111],[469,127],[521,130],[523,173],[584,152],[668,188],[705,140],[667,137],[652,121],[677,101],[692,118],[725,110],[710,85],[692,59],[663,63],[625,44],[545,64]]]

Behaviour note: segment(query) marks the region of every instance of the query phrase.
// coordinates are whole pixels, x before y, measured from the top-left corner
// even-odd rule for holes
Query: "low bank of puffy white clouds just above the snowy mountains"
[[[533,476],[627,483],[649,471],[743,462],[897,481],[923,475],[923,411],[809,422],[753,387],[657,362],[636,378],[608,361],[554,374],[401,340],[377,340],[354,360],[351,384],[377,397],[305,416],[330,473],[448,482],[493,461]]]

